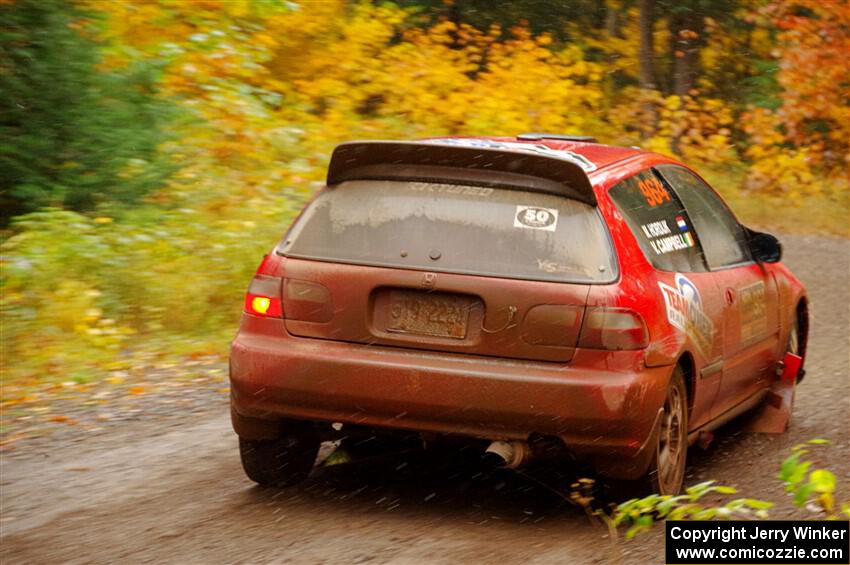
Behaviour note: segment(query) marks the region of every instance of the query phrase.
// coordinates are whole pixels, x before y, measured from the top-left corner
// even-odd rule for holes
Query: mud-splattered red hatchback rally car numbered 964
[[[787,411],[808,317],[780,260],[662,155],[547,134],[344,143],[248,288],[243,467],[294,484],[322,441],[406,432],[508,467],[557,445],[676,493],[690,444]]]

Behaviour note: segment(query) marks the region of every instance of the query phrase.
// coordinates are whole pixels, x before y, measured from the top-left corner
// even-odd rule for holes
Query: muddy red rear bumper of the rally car
[[[569,365],[490,359],[296,338],[282,320],[245,315],[231,347],[234,424],[297,418],[518,440],[536,432],[603,472],[624,457],[643,466],[670,367],[647,368],[642,354],[578,350]]]

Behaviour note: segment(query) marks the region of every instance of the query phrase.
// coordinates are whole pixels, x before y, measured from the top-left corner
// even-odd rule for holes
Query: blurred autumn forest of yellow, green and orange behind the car
[[[222,355],[351,139],[545,131],[848,237],[838,0],[0,0],[3,402]]]

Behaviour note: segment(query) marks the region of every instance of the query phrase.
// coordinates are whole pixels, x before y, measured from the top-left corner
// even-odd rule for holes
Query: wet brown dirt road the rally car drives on
[[[783,238],[812,299],[808,376],[791,430],[723,428],[689,453],[687,481],[716,479],[805,517],[774,479],[791,446],[821,437],[819,462],[848,499],[850,359],[844,239]],[[219,369],[220,370],[220,369]],[[218,384],[223,386],[222,382]],[[293,489],[253,486],[240,468],[226,397],[169,404],[91,435],[21,442],[0,461],[3,563],[606,563],[605,528],[508,471],[401,453],[318,470]],[[196,400],[197,400],[196,398]],[[621,543],[626,563],[662,563],[661,528]]]

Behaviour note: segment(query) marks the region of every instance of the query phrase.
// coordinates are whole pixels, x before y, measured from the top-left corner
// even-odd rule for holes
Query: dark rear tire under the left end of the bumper
[[[274,440],[239,438],[242,468],[248,478],[263,486],[292,486],[306,479],[319,453],[319,435],[307,423],[285,425]]]

